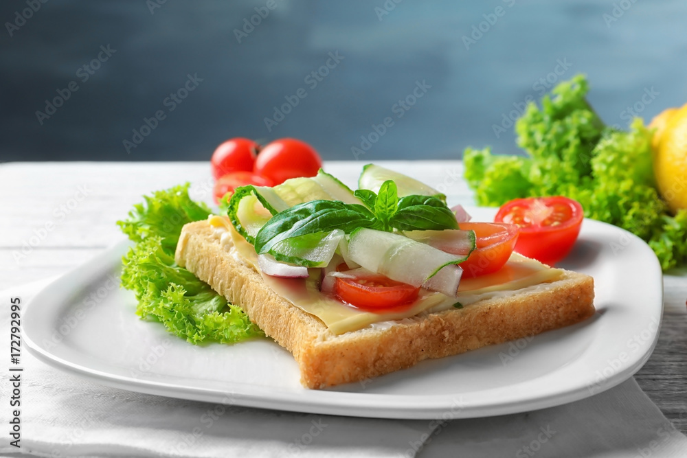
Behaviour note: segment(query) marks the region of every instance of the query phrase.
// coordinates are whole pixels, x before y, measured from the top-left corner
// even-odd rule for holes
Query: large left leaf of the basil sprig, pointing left
[[[256,236],[258,254],[269,253],[287,238],[341,229],[351,233],[359,227],[379,227],[372,211],[359,204],[340,201],[310,201],[295,205],[273,216]]]

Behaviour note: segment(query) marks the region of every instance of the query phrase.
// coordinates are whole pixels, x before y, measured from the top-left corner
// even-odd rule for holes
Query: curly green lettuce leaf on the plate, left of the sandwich
[[[146,205],[136,205],[128,220],[117,222],[136,242],[122,260],[122,286],[134,292],[137,314],[161,322],[190,343],[263,336],[243,310],[174,262],[181,227],[210,214],[205,205],[191,201],[188,184],[145,199]]]

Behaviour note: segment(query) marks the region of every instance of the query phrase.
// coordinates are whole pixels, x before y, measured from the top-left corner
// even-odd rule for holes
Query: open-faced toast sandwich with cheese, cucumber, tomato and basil
[[[239,187],[226,216],[183,227],[175,260],[289,350],[311,389],[594,314],[589,275],[509,251],[475,264],[477,233],[464,228],[476,223],[444,199],[377,165],[355,192],[322,171]]]

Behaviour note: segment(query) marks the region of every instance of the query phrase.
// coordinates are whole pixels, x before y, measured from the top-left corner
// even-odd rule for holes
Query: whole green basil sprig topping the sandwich
[[[366,227],[383,231],[458,229],[453,211],[440,198],[404,196],[398,198],[396,183],[387,180],[379,194],[357,190],[354,195],[365,205],[340,201],[310,201],[280,211],[258,231],[258,254],[271,253],[279,242],[311,233],[324,234],[341,229],[348,234]]]

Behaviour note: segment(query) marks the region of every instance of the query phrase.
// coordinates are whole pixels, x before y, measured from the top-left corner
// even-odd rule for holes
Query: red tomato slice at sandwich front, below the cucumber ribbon
[[[420,288],[395,282],[384,275],[371,274],[364,277],[336,277],[334,294],[344,302],[374,312],[411,304],[417,299]]]

